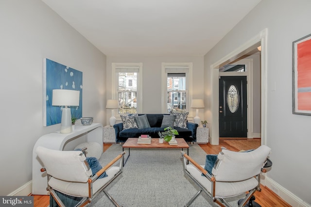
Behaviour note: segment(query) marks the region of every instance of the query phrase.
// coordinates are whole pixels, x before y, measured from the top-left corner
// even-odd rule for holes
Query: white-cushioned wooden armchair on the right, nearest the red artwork
[[[265,172],[263,166],[270,152],[271,149],[266,145],[261,145],[250,152],[234,152],[223,149],[217,155],[215,164],[211,165],[213,167],[209,174],[204,165],[199,165],[181,151],[184,172],[200,189],[186,206],[190,206],[202,191],[221,207],[230,206],[224,198],[248,192],[245,198],[238,202],[239,207],[244,206],[255,191],[261,191],[260,172]]]

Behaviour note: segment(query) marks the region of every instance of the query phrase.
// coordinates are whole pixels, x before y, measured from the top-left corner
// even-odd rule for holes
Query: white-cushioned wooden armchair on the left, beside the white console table
[[[105,191],[105,188],[122,173],[124,152],[96,174],[93,173],[94,175],[92,175],[85,154],[81,151],[59,151],[38,146],[36,153],[44,165],[41,172],[47,172],[47,191],[50,192],[58,206],[83,207],[91,203],[92,199],[103,191],[110,201],[119,207],[117,202]],[[113,166],[118,160],[120,160],[120,165]],[[108,176],[99,178],[104,172]],[[63,201],[60,197],[63,198]],[[76,203],[68,204],[72,201]]]

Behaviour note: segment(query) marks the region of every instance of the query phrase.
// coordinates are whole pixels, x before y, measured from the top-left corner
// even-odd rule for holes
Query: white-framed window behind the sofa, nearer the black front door
[[[162,111],[189,111],[192,63],[162,63]],[[164,85],[166,87],[164,87]]]

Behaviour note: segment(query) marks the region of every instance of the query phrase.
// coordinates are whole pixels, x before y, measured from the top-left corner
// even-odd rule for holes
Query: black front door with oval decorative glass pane
[[[219,137],[247,137],[246,76],[219,79]]]

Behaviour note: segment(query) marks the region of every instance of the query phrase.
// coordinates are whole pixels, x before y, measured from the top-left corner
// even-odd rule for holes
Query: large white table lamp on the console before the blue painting
[[[80,91],[54,89],[52,91],[52,106],[64,106],[62,109],[62,121],[60,133],[68,134],[72,132],[71,113],[68,106],[79,106]]]

